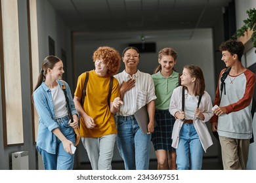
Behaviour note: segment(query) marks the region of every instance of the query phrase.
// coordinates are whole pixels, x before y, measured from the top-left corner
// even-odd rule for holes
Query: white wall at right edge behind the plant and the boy
[[[255,0],[236,0],[236,25],[237,29],[240,29],[244,25],[243,20],[247,18],[246,10],[250,8],[256,8]],[[249,67],[253,63],[256,63],[255,48],[252,48],[245,54],[246,67]],[[256,169],[256,117],[253,119],[253,132],[254,132],[254,143],[250,144],[249,147],[249,159],[247,162],[247,169]]]

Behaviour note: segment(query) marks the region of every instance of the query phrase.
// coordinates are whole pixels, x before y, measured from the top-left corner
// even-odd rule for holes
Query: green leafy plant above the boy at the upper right
[[[238,39],[240,37],[244,37],[245,32],[252,31],[251,39],[253,42],[253,47],[256,48],[256,10],[255,8],[246,10],[248,14],[248,18],[244,20],[244,25],[236,31],[233,35],[233,39]],[[255,50],[256,53],[256,50]]]

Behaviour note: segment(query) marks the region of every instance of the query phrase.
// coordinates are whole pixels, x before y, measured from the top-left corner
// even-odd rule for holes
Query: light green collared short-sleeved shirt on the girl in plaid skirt
[[[157,97],[155,100],[156,109],[167,110],[169,109],[173,90],[179,86],[179,73],[173,71],[169,78],[165,78],[160,72],[152,75]]]

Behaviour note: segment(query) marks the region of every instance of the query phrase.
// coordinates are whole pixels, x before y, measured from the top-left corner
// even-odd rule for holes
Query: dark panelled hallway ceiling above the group
[[[48,0],[70,29],[107,34],[211,28],[231,0]]]

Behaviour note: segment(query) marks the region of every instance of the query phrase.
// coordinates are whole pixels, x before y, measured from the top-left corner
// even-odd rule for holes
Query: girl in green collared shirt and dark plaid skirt
[[[179,73],[175,72],[177,52],[173,48],[163,48],[158,53],[160,65],[152,75],[156,92],[155,118],[157,126],[152,133],[152,143],[158,159],[158,169],[177,169],[175,148],[171,146],[171,134],[175,118],[169,112],[173,90],[179,86]]]

